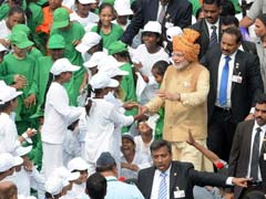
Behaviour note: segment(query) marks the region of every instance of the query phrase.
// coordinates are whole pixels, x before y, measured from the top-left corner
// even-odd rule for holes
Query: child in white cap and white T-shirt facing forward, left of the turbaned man
[[[162,46],[162,29],[157,21],[149,21],[142,31],[144,44],[134,51],[132,61],[140,71],[146,86],[141,95],[141,104],[145,104],[155,96],[157,83],[152,75],[152,66],[160,60],[168,61],[168,55]]]

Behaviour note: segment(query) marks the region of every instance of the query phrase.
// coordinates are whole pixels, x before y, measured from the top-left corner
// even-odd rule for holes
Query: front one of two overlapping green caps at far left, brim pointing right
[[[33,45],[33,42],[31,42],[27,34],[22,31],[12,32],[10,35],[10,42],[11,44],[17,45],[19,49],[25,49]]]

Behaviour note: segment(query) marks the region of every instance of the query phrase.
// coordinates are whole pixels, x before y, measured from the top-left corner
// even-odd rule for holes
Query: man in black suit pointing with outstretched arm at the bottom
[[[146,199],[193,199],[194,185],[245,187],[247,184],[245,178],[227,178],[218,174],[196,171],[190,163],[172,161],[171,144],[166,140],[153,142],[151,153],[154,166],[140,170],[137,178],[137,187]]]

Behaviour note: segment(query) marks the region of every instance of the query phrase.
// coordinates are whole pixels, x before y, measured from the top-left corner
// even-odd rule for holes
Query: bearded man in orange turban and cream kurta
[[[164,106],[163,139],[172,143],[173,159],[191,161],[197,170],[209,170],[212,164],[206,164],[203,155],[186,143],[191,129],[195,139],[206,145],[209,74],[197,62],[200,46],[191,42],[198,35],[185,29],[183,35],[174,38],[173,65],[165,72],[157,96],[141,111],[155,113]]]

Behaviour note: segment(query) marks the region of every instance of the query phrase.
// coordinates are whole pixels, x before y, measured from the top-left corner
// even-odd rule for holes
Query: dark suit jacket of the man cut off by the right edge
[[[233,146],[229,155],[229,168],[228,175],[235,177],[246,177],[248,169],[248,161],[250,157],[252,133],[253,133],[254,119],[245,121],[237,125]],[[260,151],[260,157],[265,151]],[[262,158],[260,158],[262,159]],[[264,160],[265,161],[265,160]],[[259,161],[264,191],[266,191],[266,174],[265,163]],[[242,193],[242,187],[234,187],[235,199],[239,198]]]

